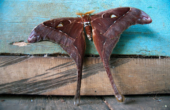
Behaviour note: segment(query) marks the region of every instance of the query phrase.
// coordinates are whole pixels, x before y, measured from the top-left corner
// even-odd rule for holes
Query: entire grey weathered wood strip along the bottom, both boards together
[[[0,110],[169,110],[170,96],[128,96],[124,103],[114,96],[81,97],[80,105],[73,97],[0,96]]]

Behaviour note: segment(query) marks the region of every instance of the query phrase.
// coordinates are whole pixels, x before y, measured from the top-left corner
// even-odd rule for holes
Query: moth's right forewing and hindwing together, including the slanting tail
[[[107,10],[91,17],[95,47],[103,61],[103,65],[110,79],[115,97],[120,102],[123,102],[124,97],[118,91],[111,75],[109,68],[110,55],[119,41],[121,33],[125,29],[136,23],[146,24],[150,22],[152,22],[152,20],[146,13],[139,9],[130,7]]]

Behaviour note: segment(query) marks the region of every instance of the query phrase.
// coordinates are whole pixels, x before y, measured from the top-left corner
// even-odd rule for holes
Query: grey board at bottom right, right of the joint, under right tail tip
[[[170,96],[128,96],[124,103],[117,102],[113,97],[104,97],[110,110],[169,110]]]

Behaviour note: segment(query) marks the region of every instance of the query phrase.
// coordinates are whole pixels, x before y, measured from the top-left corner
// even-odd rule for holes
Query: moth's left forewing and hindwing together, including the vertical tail
[[[81,18],[59,18],[45,21],[33,29],[28,42],[50,40],[60,46],[72,57],[78,69],[78,82],[75,103],[80,97],[82,65],[85,52],[85,38]]]

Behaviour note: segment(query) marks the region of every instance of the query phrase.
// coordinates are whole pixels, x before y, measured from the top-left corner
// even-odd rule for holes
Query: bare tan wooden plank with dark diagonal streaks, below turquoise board
[[[122,94],[170,93],[170,59],[116,58],[112,75]],[[74,95],[76,66],[63,57],[0,57],[0,94]],[[86,58],[81,95],[113,95],[100,58]]]

